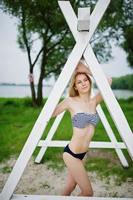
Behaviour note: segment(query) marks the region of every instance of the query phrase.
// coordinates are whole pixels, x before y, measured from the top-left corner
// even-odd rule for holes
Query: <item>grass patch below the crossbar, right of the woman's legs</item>
[[[86,163],[87,170],[90,172],[97,172],[101,178],[109,178],[111,175],[114,175],[115,183],[118,185],[125,182],[127,178],[129,181],[133,181],[133,163],[129,156],[127,155],[126,157],[130,167],[123,168],[122,165],[118,163],[118,158],[114,153],[114,150],[112,150],[112,155],[110,155],[110,157],[102,158],[99,156],[88,158]],[[127,154],[127,152],[125,152],[125,154]]]

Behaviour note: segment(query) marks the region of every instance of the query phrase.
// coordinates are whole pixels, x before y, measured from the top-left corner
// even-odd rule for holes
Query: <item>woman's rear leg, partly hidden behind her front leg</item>
[[[66,182],[64,191],[62,192],[62,195],[69,196],[72,193],[72,191],[75,189],[75,187],[76,187],[76,182],[74,178],[72,177],[71,173],[68,171],[67,182]]]

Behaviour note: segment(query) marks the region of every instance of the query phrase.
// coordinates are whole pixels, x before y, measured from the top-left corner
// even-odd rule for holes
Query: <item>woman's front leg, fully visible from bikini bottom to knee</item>
[[[79,196],[92,196],[93,195],[92,186],[89,181],[87,172],[84,168],[83,161],[74,158],[73,156],[71,156],[66,152],[63,154],[63,159],[73,179],[81,189],[81,193],[79,194]]]

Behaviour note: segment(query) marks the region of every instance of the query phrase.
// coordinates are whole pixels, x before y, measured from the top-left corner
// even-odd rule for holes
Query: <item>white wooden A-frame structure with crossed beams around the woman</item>
[[[78,32],[77,31],[77,18],[76,15],[69,3],[69,1],[59,1],[60,8],[66,18],[66,21],[72,31],[72,34],[74,35],[74,38],[76,40],[76,44],[71,52],[71,54],[68,57],[68,60],[57,80],[57,82],[54,85],[54,88],[44,106],[42,109],[23,149],[18,157],[18,160],[16,161],[16,164],[14,165],[14,168],[2,190],[2,193],[0,194],[0,200],[9,200],[11,199],[86,199],[85,197],[50,197],[50,196],[24,196],[24,195],[13,195],[14,190],[23,174],[23,171],[32,156],[36,146],[64,146],[66,142],[60,142],[59,141],[51,141],[52,134],[47,137],[46,141],[40,141],[43,131],[46,128],[46,125],[48,121],[50,120],[52,113],[59,102],[59,99],[66,88],[70,77],[77,66],[80,58],[82,55],[84,56],[86,63],[90,66],[90,70],[93,74],[93,77],[99,87],[99,90],[102,93],[102,96],[104,98],[104,101],[108,107],[108,110],[112,116],[112,119],[114,120],[114,123],[123,139],[124,143],[118,143],[116,141],[116,138],[113,135],[113,132],[103,114],[101,111],[101,108],[98,108],[98,112],[100,113],[100,117],[103,121],[103,123],[106,123],[105,127],[108,130],[107,133],[110,132],[110,138],[111,143],[91,143],[91,147],[107,147],[110,146],[111,148],[115,148],[118,152],[118,155],[121,157],[123,164],[126,166],[128,165],[126,162],[126,159],[124,158],[121,148],[127,148],[128,152],[133,159],[133,134],[131,132],[131,129],[127,123],[127,120],[116,101],[113,92],[106,80],[106,77],[104,73],[102,72],[102,69],[92,51],[92,48],[89,44],[89,40],[91,39],[95,29],[97,28],[106,8],[108,7],[110,0],[99,0],[98,3],[95,6],[94,11],[92,12],[90,16],[90,29],[89,32]],[[63,83],[63,84],[62,84]],[[54,101],[53,101],[54,100]],[[62,114],[63,115],[63,114]],[[57,119],[57,123],[52,127],[53,129],[56,128],[58,121],[60,120],[62,116],[59,116]],[[54,131],[53,131],[54,132]],[[13,196],[12,196],[13,195]],[[88,198],[87,198],[88,199]],[[90,197],[89,199],[108,199],[108,198],[98,198],[98,197]],[[113,199],[113,198],[111,198]],[[114,198],[115,199],[115,198]],[[128,199],[128,198],[126,198]]]

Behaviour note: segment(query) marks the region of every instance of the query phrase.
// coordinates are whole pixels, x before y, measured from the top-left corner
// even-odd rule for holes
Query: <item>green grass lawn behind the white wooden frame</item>
[[[45,101],[46,99],[44,102]],[[131,129],[133,130],[133,98],[128,100],[119,100],[119,104],[124,111]],[[102,108],[111,124],[117,139],[121,141],[121,137],[119,136],[118,131],[116,130],[104,103],[102,103]],[[42,108],[33,108],[31,106],[31,99],[29,98],[0,98],[0,162],[9,159],[11,156],[17,157],[19,155],[41,109]],[[53,118],[49,121],[42,138],[45,139],[53,121]],[[71,135],[72,125],[70,121],[70,114],[66,112],[62,122],[56,130],[53,139],[70,140]],[[93,140],[109,141],[109,138],[101,122],[96,128]],[[33,154],[34,158],[38,151],[39,148],[37,147]],[[124,169],[120,164],[113,163],[113,160],[118,159],[114,150],[104,149],[94,151],[97,151],[98,153],[102,152],[105,155],[109,152],[111,157],[90,157],[86,163],[86,167],[89,171],[97,171],[101,177],[108,177],[109,175],[114,174],[117,175],[121,181],[124,181],[126,178],[131,178],[133,180],[133,164],[127,151],[124,151],[124,154],[130,164],[130,167],[127,169]],[[45,158],[43,158],[42,162],[47,162],[48,167],[61,170],[64,166],[62,161],[62,152],[63,148],[48,148],[45,154]],[[10,172],[8,167],[3,169],[3,173],[8,171]]]

